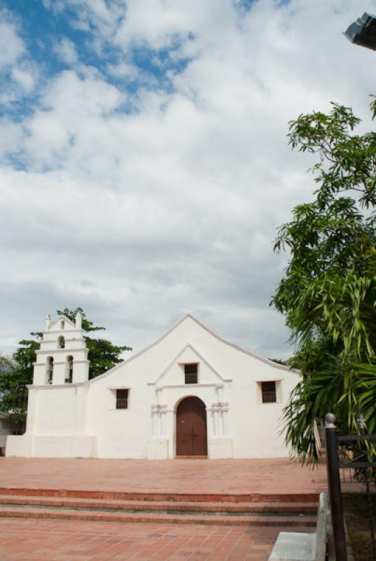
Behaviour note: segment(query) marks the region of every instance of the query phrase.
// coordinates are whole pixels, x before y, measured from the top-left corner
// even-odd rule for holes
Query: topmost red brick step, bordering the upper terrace
[[[318,493],[159,493],[159,492],[119,492],[89,491],[79,489],[31,489],[0,487],[0,495],[12,496],[56,496],[76,499],[101,499],[115,501],[168,501],[205,503],[318,503]]]

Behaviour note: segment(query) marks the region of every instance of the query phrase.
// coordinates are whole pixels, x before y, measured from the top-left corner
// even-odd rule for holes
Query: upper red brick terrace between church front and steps
[[[107,460],[0,458],[0,487],[206,494],[326,489],[325,466],[290,459]]]

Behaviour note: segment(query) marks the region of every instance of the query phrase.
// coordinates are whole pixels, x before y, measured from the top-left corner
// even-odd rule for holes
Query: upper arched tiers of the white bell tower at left
[[[81,313],[77,313],[75,323],[66,316],[53,321],[46,316],[41,346],[36,351],[34,386],[81,384],[88,381],[88,374]]]

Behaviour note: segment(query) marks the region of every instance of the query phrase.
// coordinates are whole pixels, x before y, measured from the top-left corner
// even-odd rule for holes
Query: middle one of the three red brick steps
[[[158,513],[223,513],[228,515],[263,513],[265,515],[316,514],[317,503],[210,503],[182,501],[120,501],[109,499],[69,499],[54,496],[0,495],[0,505],[54,506],[84,508],[100,511],[158,512]]]

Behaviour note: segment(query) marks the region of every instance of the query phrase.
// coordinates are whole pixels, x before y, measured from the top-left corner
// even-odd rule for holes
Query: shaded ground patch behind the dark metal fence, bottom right
[[[376,527],[375,493],[372,493],[371,501]],[[370,561],[373,559],[373,553],[367,495],[365,493],[346,493],[342,495],[342,502],[355,561]]]

